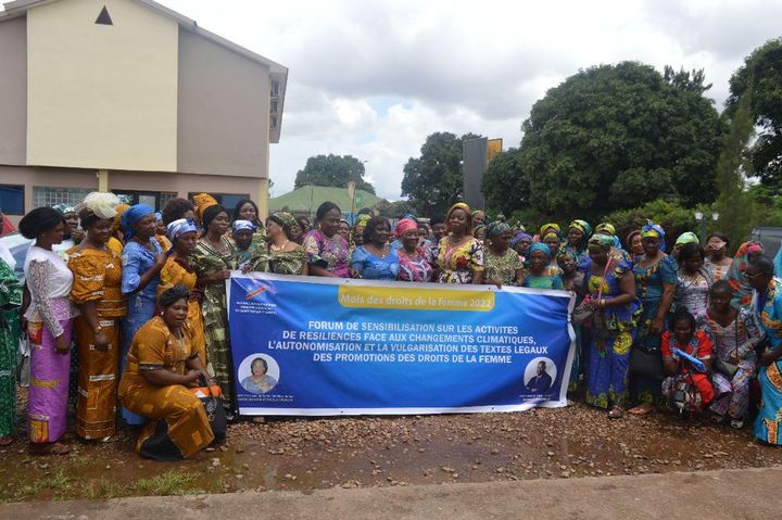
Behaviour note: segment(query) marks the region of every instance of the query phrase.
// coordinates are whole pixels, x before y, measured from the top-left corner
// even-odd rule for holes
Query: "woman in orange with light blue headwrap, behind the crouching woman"
[[[190,343],[194,352],[199,353],[201,363],[206,366],[206,339],[204,335],[203,316],[199,301],[203,295],[201,288],[197,284],[198,276],[195,269],[190,265],[190,254],[195,249],[198,228],[195,223],[189,218],[179,218],[168,224],[166,233],[172,242],[172,249],[163,269],[161,269],[161,281],[157,286],[157,296],[175,286],[182,286],[190,291],[188,300],[187,328],[190,331]]]

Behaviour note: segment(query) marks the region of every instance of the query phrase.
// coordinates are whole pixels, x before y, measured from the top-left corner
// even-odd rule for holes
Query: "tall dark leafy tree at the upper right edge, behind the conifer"
[[[759,128],[749,160],[760,181],[782,191],[782,38],[767,41],[744,60],[730,79],[726,113],[734,117],[752,90],[751,114]]]

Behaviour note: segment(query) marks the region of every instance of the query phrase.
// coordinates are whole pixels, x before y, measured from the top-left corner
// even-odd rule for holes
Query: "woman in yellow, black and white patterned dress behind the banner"
[[[464,202],[457,202],[445,215],[449,234],[438,252],[439,283],[483,281],[483,244],[472,237],[472,216]]]

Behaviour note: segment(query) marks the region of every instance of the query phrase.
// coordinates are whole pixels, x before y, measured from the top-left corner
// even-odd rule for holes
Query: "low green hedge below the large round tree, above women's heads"
[[[709,213],[706,216],[708,217]],[[633,210],[611,212],[600,220],[611,223],[616,227],[617,236],[622,243],[625,243],[625,239],[630,231],[641,229],[648,220],[654,220],[663,226],[669,245],[672,245],[676,239],[685,231],[695,231],[696,234],[701,236],[696,226],[694,210],[688,210],[678,202],[664,199],[648,202]],[[598,223],[595,221],[595,224]],[[712,229],[708,229],[708,231],[712,231]]]

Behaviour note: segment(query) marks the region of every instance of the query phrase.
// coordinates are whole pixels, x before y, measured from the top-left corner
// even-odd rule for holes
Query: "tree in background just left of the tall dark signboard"
[[[466,134],[456,137],[444,131],[427,137],[420,157],[411,157],[404,166],[402,196],[420,216],[443,214],[463,196],[462,141],[481,136]]]

